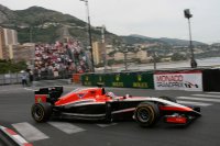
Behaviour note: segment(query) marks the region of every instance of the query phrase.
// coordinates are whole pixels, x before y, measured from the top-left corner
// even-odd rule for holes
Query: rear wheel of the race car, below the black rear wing
[[[52,105],[51,103],[34,103],[31,113],[36,122],[46,122],[52,114]]]

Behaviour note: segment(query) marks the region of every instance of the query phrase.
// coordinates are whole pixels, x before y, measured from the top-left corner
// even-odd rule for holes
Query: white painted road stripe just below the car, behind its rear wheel
[[[79,126],[66,122],[47,122],[47,123],[66,134],[73,134],[86,131]]]

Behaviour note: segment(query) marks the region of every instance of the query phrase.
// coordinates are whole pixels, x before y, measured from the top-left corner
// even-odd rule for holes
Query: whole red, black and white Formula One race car
[[[117,97],[105,88],[80,88],[62,96],[63,87],[35,91],[32,116],[36,122],[50,117],[70,117],[111,122],[134,119],[141,126],[152,126],[160,120],[186,125],[200,116],[200,108],[189,108],[168,97]]]

